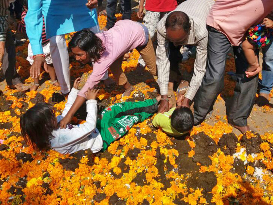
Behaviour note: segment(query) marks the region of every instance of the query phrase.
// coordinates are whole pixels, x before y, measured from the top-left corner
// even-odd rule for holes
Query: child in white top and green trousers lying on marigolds
[[[20,117],[21,133],[34,149],[51,147],[61,154],[72,154],[88,148],[93,153],[101,149],[104,151],[111,142],[123,137],[134,124],[144,121],[158,109],[159,99],[116,103],[104,109],[97,119],[95,99],[99,90],[89,88],[85,93],[86,122],[82,125],[67,124],[65,129],[60,129],[59,122],[77,97],[79,82],[80,78],[77,78],[61,115],[55,117],[53,106],[38,103]]]

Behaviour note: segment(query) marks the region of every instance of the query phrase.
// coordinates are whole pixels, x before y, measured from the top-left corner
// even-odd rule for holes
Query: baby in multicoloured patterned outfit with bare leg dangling
[[[245,72],[247,78],[257,75],[262,68],[260,68],[258,57],[255,50],[268,46],[273,40],[273,21],[269,18],[264,18],[262,24],[250,28],[243,42],[243,51],[249,68]]]

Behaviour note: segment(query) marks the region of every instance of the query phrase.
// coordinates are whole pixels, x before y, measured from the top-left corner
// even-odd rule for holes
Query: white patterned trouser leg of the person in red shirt
[[[154,33],[156,31],[156,26],[158,24],[158,21],[160,19],[160,12],[155,12],[155,11],[147,11],[146,14],[143,18],[143,25],[147,27],[151,39],[154,37]],[[141,55],[139,55],[138,58],[138,65],[145,67],[145,62]]]

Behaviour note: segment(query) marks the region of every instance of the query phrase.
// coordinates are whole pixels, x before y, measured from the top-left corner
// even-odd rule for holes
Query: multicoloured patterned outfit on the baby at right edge
[[[247,40],[256,48],[265,47],[273,40],[273,29],[268,29],[259,24],[248,30]]]

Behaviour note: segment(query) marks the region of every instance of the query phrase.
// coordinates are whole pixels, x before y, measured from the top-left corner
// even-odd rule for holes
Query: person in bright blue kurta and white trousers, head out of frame
[[[46,37],[50,40],[50,52],[61,92],[70,91],[69,56],[65,42],[66,33],[90,28],[100,31],[96,9],[97,0],[28,0],[28,13],[25,17],[26,33],[30,40],[34,63],[30,69],[33,78],[39,78],[40,69],[46,61],[42,55],[42,27],[45,20]],[[90,9],[91,8],[91,9]],[[40,54],[40,55],[39,55]]]

